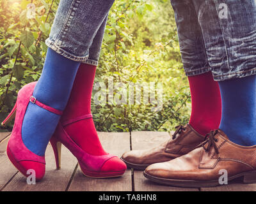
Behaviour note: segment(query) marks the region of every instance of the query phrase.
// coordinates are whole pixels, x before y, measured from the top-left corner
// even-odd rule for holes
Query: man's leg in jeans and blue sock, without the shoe
[[[256,145],[256,2],[193,2],[214,80],[220,85],[220,129],[232,142]]]

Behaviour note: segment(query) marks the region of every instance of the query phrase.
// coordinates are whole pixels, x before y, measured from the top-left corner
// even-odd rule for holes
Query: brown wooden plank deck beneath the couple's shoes
[[[9,135],[0,133],[0,191],[256,191],[256,184],[242,184],[240,180],[227,186],[199,189],[161,186],[145,179],[143,171],[131,169],[123,177],[91,179],[81,173],[76,158],[65,147],[61,154],[61,170],[56,170],[51,145],[46,150],[44,179],[36,185],[28,185],[6,156]],[[156,147],[170,138],[164,132],[99,133],[99,136],[103,147],[118,156],[130,149]]]

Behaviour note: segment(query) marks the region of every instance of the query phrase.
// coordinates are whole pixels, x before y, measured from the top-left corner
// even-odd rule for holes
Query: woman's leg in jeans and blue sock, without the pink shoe
[[[65,109],[79,64],[88,58],[93,39],[113,2],[60,1],[46,41],[49,49],[44,69],[33,92],[38,101],[61,111]],[[59,119],[59,115],[30,103],[22,124],[26,147],[44,156]]]

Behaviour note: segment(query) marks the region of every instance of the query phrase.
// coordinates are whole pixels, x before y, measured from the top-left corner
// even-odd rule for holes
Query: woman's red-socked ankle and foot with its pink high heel
[[[104,150],[104,153],[102,153],[103,151],[101,150],[100,154],[102,155],[90,154],[92,151],[86,152],[86,148],[81,144],[81,140],[77,140],[76,138],[76,134],[77,137],[81,135],[84,136],[83,142],[88,141],[90,138],[90,133],[84,133],[83,135],[83,131],[86,127],[83,125],[87,124],[88,120],[92,120],[89,100],[92,97],[92,85],[95,69],[95,66],[89,64],[80,65],[67,106],[50,142],[56,157],[57,168],[60,168],[62,143],[77,158],[81,170],[87,177],[120,177],[126,170],[126,164],[124,161],[119,159],[117,156],[106,153]],[[81,132],[78,132],[77,129]],[[91,127],[91,129],[94,130],[94,126],[93,128]],[[65,130],[67,130],[68,133]],[[92,145],[95,148],[100,147],[99,149],[101,149],[101,144],[98,140]],[[95,152],[97,152],[97,149]]]

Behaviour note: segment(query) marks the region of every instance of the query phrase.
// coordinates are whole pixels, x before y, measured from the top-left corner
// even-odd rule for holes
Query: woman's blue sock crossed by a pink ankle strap
[[[52,108],[64,110],[79,64],[48,48],[42,75],[33,92],[36,100]],[[22,123],[22,140],[31,152],[44,156],[60,117],[29,103]]]

